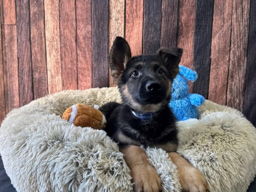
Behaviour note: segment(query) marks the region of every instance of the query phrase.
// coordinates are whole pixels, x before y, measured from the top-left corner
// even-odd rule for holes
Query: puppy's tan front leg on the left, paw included
[[[160,192],[161,180],[153,166],[148,162],[148,156],[142,148],[135,145],[125,145],[120,148],[125,162],[131,170],[135,192]]]

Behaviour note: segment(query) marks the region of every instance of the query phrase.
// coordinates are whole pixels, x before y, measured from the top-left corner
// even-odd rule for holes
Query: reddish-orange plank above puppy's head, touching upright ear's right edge
[[[143,0],[126,0],[125,39],[131,47],[131,54],[142,54]]]

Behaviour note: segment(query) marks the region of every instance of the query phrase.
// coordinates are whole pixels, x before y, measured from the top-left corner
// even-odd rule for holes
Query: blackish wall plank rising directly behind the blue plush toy
[[[196,2],[193,66],[198,79],[193,85],[193,92],[206,99],[209,92],[213,5],[213,0]]]

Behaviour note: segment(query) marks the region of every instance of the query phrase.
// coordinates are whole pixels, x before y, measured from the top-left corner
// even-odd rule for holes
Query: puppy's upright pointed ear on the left
[[[118,80],[131,59],[131,49],[128,42],[122,37],[116,37],[109,56],[111,76]]]

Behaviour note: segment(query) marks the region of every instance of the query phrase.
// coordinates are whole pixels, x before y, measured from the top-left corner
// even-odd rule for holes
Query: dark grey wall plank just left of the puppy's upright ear
[[[108,87],[108,0],[92,1],[93,87]]]

